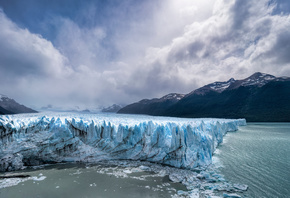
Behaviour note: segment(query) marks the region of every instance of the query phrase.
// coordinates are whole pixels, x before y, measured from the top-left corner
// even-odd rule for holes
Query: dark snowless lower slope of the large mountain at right
[[[176,117],[246,118],[247,121],[290,121],[290,81],[263,87],[239,87],[222,93],[192,95],[162,114]]]

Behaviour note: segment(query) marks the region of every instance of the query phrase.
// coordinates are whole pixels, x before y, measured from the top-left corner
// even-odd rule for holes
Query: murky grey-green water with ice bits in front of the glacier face
[[[31,177],[6,179],[11,186],[0,189],[1,198],[149,198],[171,197],[178,190],[186,190],[154,172],[104,164],[58,164],[15,173]]]

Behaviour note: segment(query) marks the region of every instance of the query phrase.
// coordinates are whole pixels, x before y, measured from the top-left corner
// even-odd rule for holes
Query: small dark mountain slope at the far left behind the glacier
[[[15,100],[0,94],[0,115],[16,113],[37,113],[37,111],[21,105]]]

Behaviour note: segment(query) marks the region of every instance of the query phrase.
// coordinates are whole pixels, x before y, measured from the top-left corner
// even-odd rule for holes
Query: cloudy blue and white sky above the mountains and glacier
[[[288,0],[0,0],[0,93],[39,109],[130,104],[290,76]]]

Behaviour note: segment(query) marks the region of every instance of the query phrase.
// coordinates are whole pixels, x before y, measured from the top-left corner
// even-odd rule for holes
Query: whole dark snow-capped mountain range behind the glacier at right
[[[289,122],[290,78],[257,72],[242,80],[214,82],[188,94],[144,99],[118,113]]]

